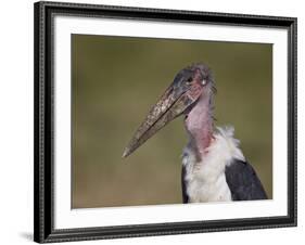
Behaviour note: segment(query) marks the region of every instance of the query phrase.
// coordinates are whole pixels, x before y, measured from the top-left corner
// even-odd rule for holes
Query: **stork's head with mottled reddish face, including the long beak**
[[[211,95],[213,88],[212,74],[206,65],[193,64],[181,69],[161,99],[152,106],[125,149],[123,157],[130,155],[176,117],[185,115],[187,118],[201,98]]]

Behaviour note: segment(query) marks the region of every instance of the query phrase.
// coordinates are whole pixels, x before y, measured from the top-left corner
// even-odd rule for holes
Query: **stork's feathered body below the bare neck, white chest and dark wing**
[[[226,154],[225,154],[226,153]],[[199,159],[190,142],[182,155],[183,203],[266,199],[252,166],[246,163],[233,128],[217,128],[214,140]]]

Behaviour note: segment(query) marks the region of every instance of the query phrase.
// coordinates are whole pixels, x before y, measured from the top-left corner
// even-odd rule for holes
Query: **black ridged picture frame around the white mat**
[[[37,2],[35,11],[35,222],[38,243],[167,235],[296,225],[296,22],[294,17]],[[288,30],[288,215],[213,221],[54,229],[52,25],[54,14],[238,25]]]

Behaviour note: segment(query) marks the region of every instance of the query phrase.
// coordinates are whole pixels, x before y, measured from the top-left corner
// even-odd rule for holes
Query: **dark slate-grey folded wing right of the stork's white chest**
[[[268,198],[258,177],[249,163],[234,159],[226,166],[225,173],[232,201]]]

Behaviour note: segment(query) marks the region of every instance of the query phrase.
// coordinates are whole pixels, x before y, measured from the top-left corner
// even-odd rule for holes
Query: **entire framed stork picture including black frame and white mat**
[[[296,225],[296,18],[35,3],[39,243]]]

